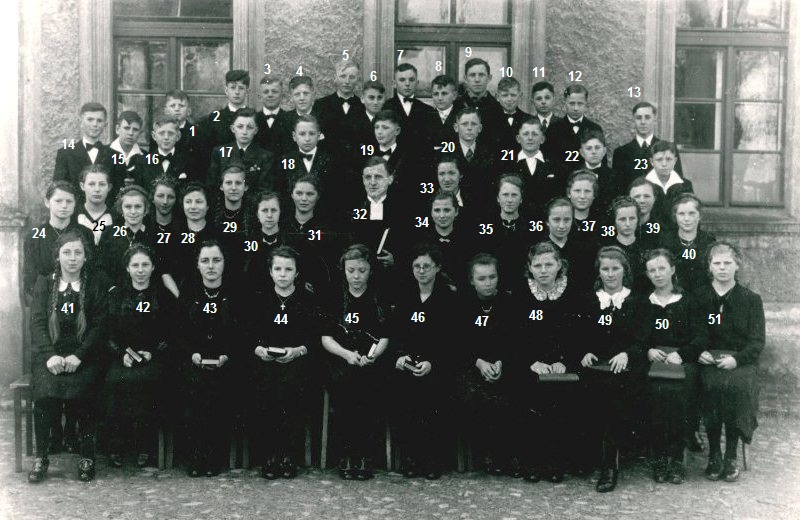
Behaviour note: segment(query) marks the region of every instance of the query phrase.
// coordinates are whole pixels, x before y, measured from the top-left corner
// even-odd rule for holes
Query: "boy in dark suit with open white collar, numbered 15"
[[[142,185],[144,154],[139,148],[142,133],[142,118],[139,114],[125,110],[117,118],[115,131],[117,138],[108,145],[111,152],[111,190],[108,200],[117,200],[117,193],[123,186]]]

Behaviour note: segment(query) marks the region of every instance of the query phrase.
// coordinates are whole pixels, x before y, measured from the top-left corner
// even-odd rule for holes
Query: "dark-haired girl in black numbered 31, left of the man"
[[[303,175],[294,181],[291,191],[294,212],[284,215],[283,228],[286,243],[303,259],[303,281],[310,284],[315,294],[325,297],[330,290],[336,240],[316,211],[322,196],[319,183],[315,175]]]

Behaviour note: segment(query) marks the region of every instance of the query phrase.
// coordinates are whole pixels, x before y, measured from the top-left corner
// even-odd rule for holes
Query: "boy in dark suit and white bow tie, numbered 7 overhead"
[[[427,148],[425,123],[427,114],[433,109],[416,98],[417,68],[410,63],[401,63],[394,68],[395,95],[386,101],[384,108],[393,111],[400,118],[403,136],[400,141],[405,147],[422,152]]]

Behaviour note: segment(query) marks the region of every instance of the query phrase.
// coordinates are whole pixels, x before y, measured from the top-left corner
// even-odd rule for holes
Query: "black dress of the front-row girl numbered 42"
[[[155,280],[142,291],[128,282],[109,292],[111,363],[103,390],[106,416],[112,441],[120,443],[123,428],[133,428],[133,440],[141,453],[150,451],[157,423],[175,390],[169,383],[174,379],[170,376],[177,303],[172,293]],[[128,368],[123,363],[127,348],[149,352],[152,358]],[[119,445],[113,448],[115,453],[120,452]]]

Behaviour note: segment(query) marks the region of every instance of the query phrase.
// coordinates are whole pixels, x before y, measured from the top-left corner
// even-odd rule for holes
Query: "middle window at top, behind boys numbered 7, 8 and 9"
[[[489,62],[494,92],[500,69],[511,64],[508,0],[397,0],[395,20],[395,58],[417,67],[420,98],[430,97],[439,74],[463,79],[472,57]]]

